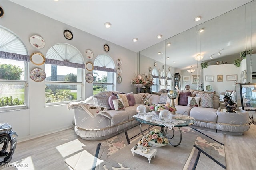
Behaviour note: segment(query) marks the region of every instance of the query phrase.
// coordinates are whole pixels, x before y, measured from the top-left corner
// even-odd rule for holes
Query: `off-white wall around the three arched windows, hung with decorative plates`
[[[131,92],[134,90],[133,86],[130,85],[130,81],[133,78],[131,72],[136,72],[137,69],[137,53],[10,1],[1,1],[1,7],[4,9],[4,16],[0,19],[0,24],[18,35],[26,45],[29,55],[38,51],[45,56],[52,45],[68,43],[82,53],[84,63],[88,62],[85,56],[87,49],[90,49],[94,53],[92,61],[100,54],[109,55],[115,64],[116,60],[120,58],[122,60],[122,82],[116,84],[116,90],[122,92]],[[72,31],[74,35],[72,40],[67,40],[63,36],[65,29]],[[32,35],[39,35],[44,39],[45,47],[43,49],[35,49],[30,45],[29,38]],[[105,43],[110,46],[108,53],[103,49]],[[45,69],[44,65],[36,66],[30,62],[29,72],[34,68]],[[85,73],[87,73],[87,70]],[[18,142],[72,127],[72,120],[74,119],[73,109],[68,111],[66,104],[45,107],[44,85],[44,82],[34,82],[28,78],[29,108],[0,113],[1,123],[12,125],[13,130],[18,134]],[[85,83],[83,100],[91,95],[92,84]]]

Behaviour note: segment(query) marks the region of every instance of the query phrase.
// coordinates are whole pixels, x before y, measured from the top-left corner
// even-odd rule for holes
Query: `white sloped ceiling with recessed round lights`
[[[250,2],[250,0],[11,1],[134,52],[147,49]],[[194,21],[196,16],[202,17],[199,22]],[[110,22],[111,27],[105,28],[105,22]],[[161,39],[157,38],[159,34],[163,35]],[[138,41],[134,43],[133,38],[138,38]],[[186,41],[186,37],[180,39]],[[213,39],[211,43],[214,44],[214,41]],[[216,49],[222,47],[224,46],[219,45]],[[217,52],[216,49],[213,49],[214,53]],[[189,52],[189,48],[186,51]],[[177,61],[180,62],[174,65],[173,60],[172,62],[170,60],[170,63],[167,63],[170,66],[185,68],[191,65],[192,59],[186,59],[188,57],[186,53],[172,54],[172,56],[179,56]],[[157,55],[152,55],[152,58],[161,61]]]

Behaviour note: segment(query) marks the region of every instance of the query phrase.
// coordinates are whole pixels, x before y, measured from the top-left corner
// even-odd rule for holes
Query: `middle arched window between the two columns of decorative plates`
[[[45,63],[46,105],[82,100],[85,65],[78,49],[66,43],[56,44],[47,51]]]

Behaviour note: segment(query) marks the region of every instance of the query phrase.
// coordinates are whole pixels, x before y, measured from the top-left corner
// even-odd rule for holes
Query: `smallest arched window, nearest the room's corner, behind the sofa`
[[[106,90],[115,90],[114,80],[116,78],[114,73],[116,69],[111,57],[108,55],[98,55],[93,65],[93,94]]]

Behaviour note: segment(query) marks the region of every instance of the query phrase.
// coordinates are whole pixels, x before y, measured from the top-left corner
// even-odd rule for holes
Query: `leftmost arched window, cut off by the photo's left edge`
[[[20,38],[0,26],[1,111],[28,108],[28,51]]]

